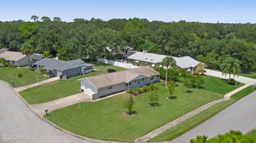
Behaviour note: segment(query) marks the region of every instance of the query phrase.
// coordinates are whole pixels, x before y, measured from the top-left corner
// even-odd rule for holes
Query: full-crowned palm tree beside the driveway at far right
[[[240,69],[241,62],[233,57],[228,57],[226,60],[224,60],[220,65],[220,70],[222,74],[229,74],[229,79],[231,78],[231,73],[234,75],[237,75],[241,72]]]

